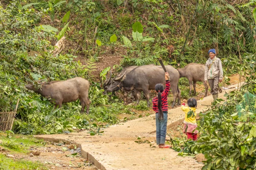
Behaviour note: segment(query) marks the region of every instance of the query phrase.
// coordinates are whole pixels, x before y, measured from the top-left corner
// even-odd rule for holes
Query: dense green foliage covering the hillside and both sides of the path
[[[207,51],[216,48],[225,75],[238,72],[247,85],[226,95],[224,105],[216,101],[217,106],[202,115],[198,142],[177,140],[177,150],[204,153],[204,169],[256,168],[256,113],[244,109],[244,116],[234,115],[244,92],[256,94],[256,77],[251,74],[256,72],[255,7],[256,0],[2,1],[0,111],[12,111],[20,99],[13,127],[17,133],[81,128],[100,133],[98,127],[118,122],[118,113],[132,112],[116,96],[102,94],[99,72],[105,79],[109,66],[119,71],[129,65],[157,64],[159,57],[175,68],[205,63]],[[54,45],[62,37],[65,46],[55,55]],[[117,64],[99,67],[107,55],[118,58]],[[79,113],[79,101],[53,110],[47,99],[24,88],[29,83],[39,86],[40,79],[73,77],[90,81],[89,115]]]

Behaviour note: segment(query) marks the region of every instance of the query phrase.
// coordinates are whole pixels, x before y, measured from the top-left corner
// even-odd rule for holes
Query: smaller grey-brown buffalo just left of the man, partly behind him
[[[180,73],[180,77],[186,77],[189,79],[189,95],[191,95],[192,91],[192,85],[194,87],[194,94],[196,94],[196,82],[203,82],[204,83],[204,96],[207,96],[208,91],[208,84],[204,81],[204,71],[205,71],[205,65],[204,64],[197,64],[197,63],[190,63],[186,65],[184,68],[178,69]],[[221,88],[218,88],[219,92],[221,93]]]

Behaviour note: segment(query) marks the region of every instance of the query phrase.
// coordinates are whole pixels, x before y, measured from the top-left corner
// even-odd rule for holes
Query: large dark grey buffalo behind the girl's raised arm
[[[171,65],[166,65],[166,70],[170,75],[171,90],[173,93],[173,103],[174,107],[176,99],[178,98],[178,105],[180,105],[180,90],[178,88],[179,72],[173,68]],[[147,99],[148,106],[149,102],[149,90],[154,90],[157,83],[162,83],[165,85],[165,72],[160,65],[142,65],[140,67],[134,68],[128,74],[119,74],[111,80],[111,85],[108,91],[117,91],[121,88],[135,88],[137,90],[137,104],[140,101],[141,91],[144,92],[145,98]]]

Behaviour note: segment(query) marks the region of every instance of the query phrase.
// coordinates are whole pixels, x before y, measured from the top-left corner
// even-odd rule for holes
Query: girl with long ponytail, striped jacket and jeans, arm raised
[[[168,113],[168,101],[167,96],[170,91],[169,73],[165,73],[166,88],[162,84],[155,85],[155,92],[157,96],[152,100],[153,111],[156,112],[156,133],[157,144],[160,148],[169,148],[171,146],[165,144],[166,128],[167,128],[167,113]]]

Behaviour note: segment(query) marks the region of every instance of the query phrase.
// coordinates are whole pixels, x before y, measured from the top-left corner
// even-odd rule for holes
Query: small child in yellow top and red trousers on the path
[[[188,107],[185,107],[185,102],[187,102]],[[197,101],[195,98],[190,98],[188,101],[186,99],[183,100],[181,105],[181,110],[185,112],[185,120],[184,120],[184,129],[183,133],[188,136],[188,139],[193,139],[194,141],[197,139],[198,130],[196,130],[196,107]]]

